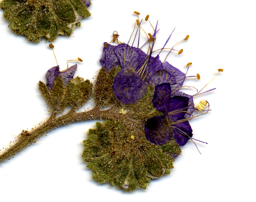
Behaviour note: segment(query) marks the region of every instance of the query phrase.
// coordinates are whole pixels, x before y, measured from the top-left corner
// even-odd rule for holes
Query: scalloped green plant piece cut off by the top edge
[[[70,36],[80,20],[90,16],[90,0],[2,0],[0,7],[10,29],[31,42]]]

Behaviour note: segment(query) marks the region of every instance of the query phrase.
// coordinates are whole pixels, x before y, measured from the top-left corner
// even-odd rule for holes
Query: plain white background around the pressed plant
[[[60,68],[80,57],[84,62],[77,63],[76,76],[93,81],[101,67],[103,42],[118,31],[119,40],[127,43],[134,10],[140,18],[149,14],[154,25],[159,20],[156,48],[174,28],[168,47],[189,34],[189,40],[177,45],[183,53],[171,53],[167,59],[183,72],[192,62],[188,75],[200,73],[199,81],[190,78],[185,85],[201,89],[217,69],[224,69],[206,88],[217,89],[194,99],[210,102],[212,111],[190,121],[193,137],[208,144],[197,143],[200,155],[192,142],[187,143],[170,175],[152,180],[145,191],[124,193],[109,184],[99,186],[82,161],[82,141],[95,122],[72,124],[49,132],[0,164],[0,201],[255,201],[256,16],[251,2],[93,0],[92,16],[82,20],[71,37],[59,36],[53,42]],[[0,20],[4,20],[2,12]],[[46,81],[44,75],[56,61],[47,41],[29,43],[11,33],[4,21],[0,21],[0,43],[2,149],[23,129],[48,116],[37,83]],[[162,52],[160,58],[165,56]],[[187,92],[194,94],[194,90]]]

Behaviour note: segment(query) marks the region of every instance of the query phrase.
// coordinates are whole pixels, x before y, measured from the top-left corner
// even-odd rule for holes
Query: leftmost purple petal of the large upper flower
[[[106,68],[107,72],[109,72],[114,67],[120,66],[120,62],[114,53],[114,47],[116,46],[111,44],[108,44],[106,48],[103,47],[102,56],[99,60],[102,67]]]

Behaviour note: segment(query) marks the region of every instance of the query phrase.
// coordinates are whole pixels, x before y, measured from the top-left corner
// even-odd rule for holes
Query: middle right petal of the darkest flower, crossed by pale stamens
[[[168,112],[172,112],[174,110],[187,111],[189,98],[183,96],[174,96],[169,99],[168,103]],[[184,112],[175,113],[169,115],[170,121],[176,121],[184,118]]]

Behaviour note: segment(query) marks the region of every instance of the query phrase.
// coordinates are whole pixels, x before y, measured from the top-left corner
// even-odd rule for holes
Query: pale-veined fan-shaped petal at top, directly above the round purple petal
[[[130,67],[134,70],[140,65],[141,55],[139,51],[134,50],[134,47],[127,45],[125,43],[119,44],[114,48],[114,52],[118,57],[118,60],[122,68]],[[143,57],[143,56],[142,56]]]

